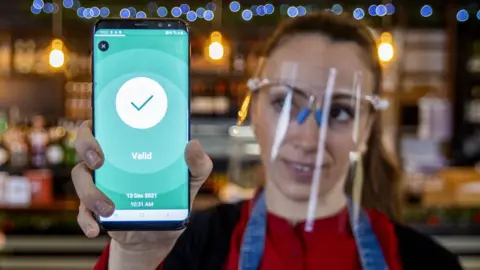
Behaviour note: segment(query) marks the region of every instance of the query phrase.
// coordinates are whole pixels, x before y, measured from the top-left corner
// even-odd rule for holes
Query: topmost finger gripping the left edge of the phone
[[[102,166],[103,152],[93,137],[92,121],[84,121],[80,125],[75,140],[75,149],[90,169],[95,170]]]

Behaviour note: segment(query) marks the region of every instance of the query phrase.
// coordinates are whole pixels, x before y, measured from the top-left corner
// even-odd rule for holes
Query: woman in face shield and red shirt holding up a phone
[[[381,68],[368,29],[328,13],[297,18],[279,28],[263,56],[267,60],[260,73],[267,74],[265,77],[274,78],[281,69],[287,79],[296,76],[296,87],[306,89],[322,84],[310,87],[310,99],[305,99],[305,106],[297,108],[296,98],[303,90],[288,90],[295,87],[282,83],[273,87],[264,79],[251,81],[250,120],[261,148],[267,179],[265,188],[251,201],[222,204],[194,213],[183,232],[111,232],[112,240],[95,269],[461,269],[456,256],[428,237],[397,223],[398,175],[382,149],[375,110],[360,109],[361,117],[351,117],[351,111],[335,107],[336,101],[326,105],[329,100],[326,96],[333,93],[333,88],[352,82],[342,77],[344,70],[361,71],[361,87],[355,89],[362,89],[361,96],[370,97],[370,105],[375,105],[372,97],[380,94]],[[283,68],[286,63],[290,64],[289,68]],[[326,66],[335,67],[338,74],[332,72],[334,69],[329,69],[328,76],[316,72],[325,70]],[[332,75],[336,76],[335,80],[331,79]],[[329,87],[330,81],[335,81],[337,86]],[[324,103],[319,104],[316,97]],[[286,104],[290,104],[287,109]],[[331,108],[325,109],[325,106]],[[304,112],[301,108],[315,109],[315,114],[307,113],[300,119]],[[326,117],[322,110],[329,112]],[[285,115],[287,120],[283,119]],[[294,117],[297,122],[293,123],[288,117]],[[351,127],[353,118],[359,119],[360,125],[355,144],[339,141],[344,128]],[[288,127],[279,128],[287,122]],[[323,136],[319,130],[327,129],[328,135],[324,135],[328,138],[318,144],[318,138]],[[114,206],[92,183],[91,170],[102,165],[103,154],[92,136],[90,122],[80,128],[76,147],[84,160],[72,171],[81,200],[78,223],[85,234],[93,238],[99,234],[99,227],[92,212],[110,216]],[[378,253],[373,256],[378,262],[374,266],[365,260],[369,254],[365,255],[368,252],[362,247],[364,238],[357,234],[360,226],[350,227],[357,224],[352,219],[355,215],[351,214],[355,212],[350,210],[354,206],[343,192],[349,154],[357,148],[364,157],[360,167],[365,176],[363,206],[368,209],[359,213],[366,213],[363,217],[367,217],[367,231],[374,239],[371,242],[377,243],[372,249]],[[318,163],[320,149],[324,151]],[[185,156],[192,174],[191,197],[195,198],[212,170],[212,162],[197,141],[187,145]],[[314,171],[318,172],[320,167],[322,184],[318,192],[312,192],[311,184],[320,174]],[[313,207],[309,205],[312,196]],[[380,211],[373,210],[375,208]],[[311,218],[314,230],[305,231],[303,228],[308,226],[304,221],[308,223]]]

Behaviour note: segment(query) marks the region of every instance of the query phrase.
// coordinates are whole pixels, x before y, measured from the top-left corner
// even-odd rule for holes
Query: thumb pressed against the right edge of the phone
[[[185,160],[191,174],[190,192],[195,197],[203,182],[212,172],[213,163],[205,152],[200,142],[192,140],[185,150]]]

